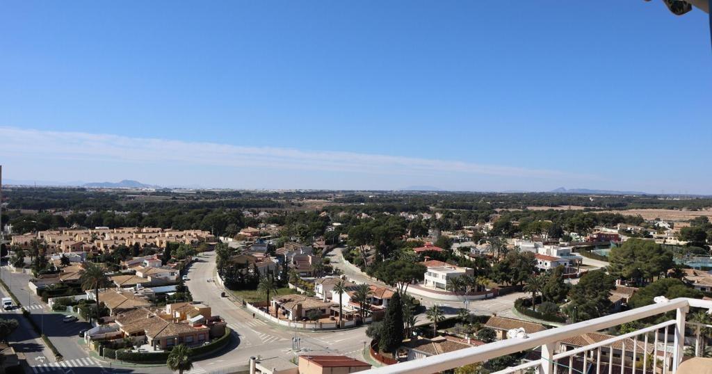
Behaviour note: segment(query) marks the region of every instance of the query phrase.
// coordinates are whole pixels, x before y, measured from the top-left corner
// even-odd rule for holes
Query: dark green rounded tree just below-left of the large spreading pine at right
[[[611,307],[612,289],[615,289],[615,279],[606,271],[589,271],[569,292],[569,316],[575,322],[603,316]]]

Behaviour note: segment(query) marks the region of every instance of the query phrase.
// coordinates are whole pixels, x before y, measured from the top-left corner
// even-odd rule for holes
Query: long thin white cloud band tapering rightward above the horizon
[[[212,142],[1,128],[0,156],[73,162],[122,162],[347,172],[359,175],[488,175],[495,177],[595,179],[556,170],[358,152],[246,147]]]

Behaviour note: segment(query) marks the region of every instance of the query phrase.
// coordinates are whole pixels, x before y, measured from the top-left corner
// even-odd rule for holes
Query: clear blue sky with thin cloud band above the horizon
[[[712,193],[706,14],[515,4],[5,1],[4,177]]]

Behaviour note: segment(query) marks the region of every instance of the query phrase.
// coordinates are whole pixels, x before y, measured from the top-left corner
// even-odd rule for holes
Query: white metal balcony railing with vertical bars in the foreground
[[[515,338],[374,368],[364,373],[438,373],[471,363],[482,363],[503,355],[540,348],[540,358],[494,374],[524,373],[528,370],[538,370],[540,374],[675,374],[684,355],[685,318],[690,307],[712,310],[712,301],[696,298],[673,300],[656,298],[656,303],[642,308],[552,328],[528,336],[520,333]],[[559,350],[561,341],[620,326],[623,323],[663,315],[670,311],[676,311],[674,319],[595,344],[571,350]],[[669,338],[670,333],[671,338]],[[620,352],[619,358],[614,358],[615,351]]]

